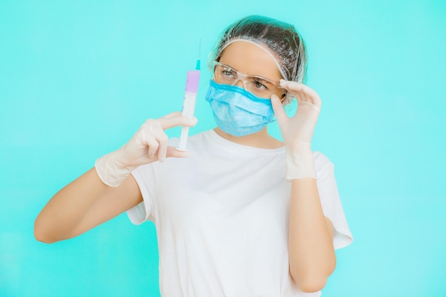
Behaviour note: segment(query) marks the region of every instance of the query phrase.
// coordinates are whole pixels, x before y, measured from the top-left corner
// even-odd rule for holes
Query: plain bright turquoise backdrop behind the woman
[[[151,223],[123,214],[48,245],[33,221],[147,118],[180,110],[200,38],[204,63],[248,14],[295,24],[323,99],[313,148],[336,164],[355,237],[323,296],[446,296],[442,0],[1,0],[0,296],[159,296]],[[214,127],[207,80],[192,134]]]

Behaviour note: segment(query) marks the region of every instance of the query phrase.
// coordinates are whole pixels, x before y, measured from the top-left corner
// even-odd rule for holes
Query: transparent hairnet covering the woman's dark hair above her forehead
[[[284,79],[304,83],[306,49],[293,25],[266,16],[247,16],[227,27],[209,54],[209,67],[219,61],[222,51],[235,40],[246,40],[269,50],[279,63]]]

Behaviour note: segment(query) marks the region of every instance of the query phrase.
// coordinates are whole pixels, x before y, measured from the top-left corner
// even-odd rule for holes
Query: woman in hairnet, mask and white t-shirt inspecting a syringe
[[[188,153],[164,130],[195,119],[147,120],[48,202],[36,239],[68,239],[128,211],[155,223],[162,296],[320,296],[351,234],[333,165],[311,152],[321,99],[302,84],[304,43],[294,26],[249,16],[224,31],[209,66],[218,127],[190,137]],[[266,130],[273,115],[284,142]]]

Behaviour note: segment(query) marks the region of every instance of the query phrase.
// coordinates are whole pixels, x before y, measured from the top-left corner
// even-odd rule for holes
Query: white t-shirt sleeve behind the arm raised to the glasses
[[[334,248],[341,249],[351,244],[353,236],[348,227],[346,215],[339,197],[338,186],[334,176],[334,165],[320,152],[314,152],[313,157],[316,165],[317,185],[323,214],[331,220],[335,228],[333,237]]]

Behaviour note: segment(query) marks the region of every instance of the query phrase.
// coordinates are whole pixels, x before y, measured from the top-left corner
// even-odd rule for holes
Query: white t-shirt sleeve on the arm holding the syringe
[[[147,220],[153,221],[156,184],[154,163],[137,167],[133,170],[132,175],[140,187],[142,202],[128,209],[128,218],[135,225],[142,224]]]

